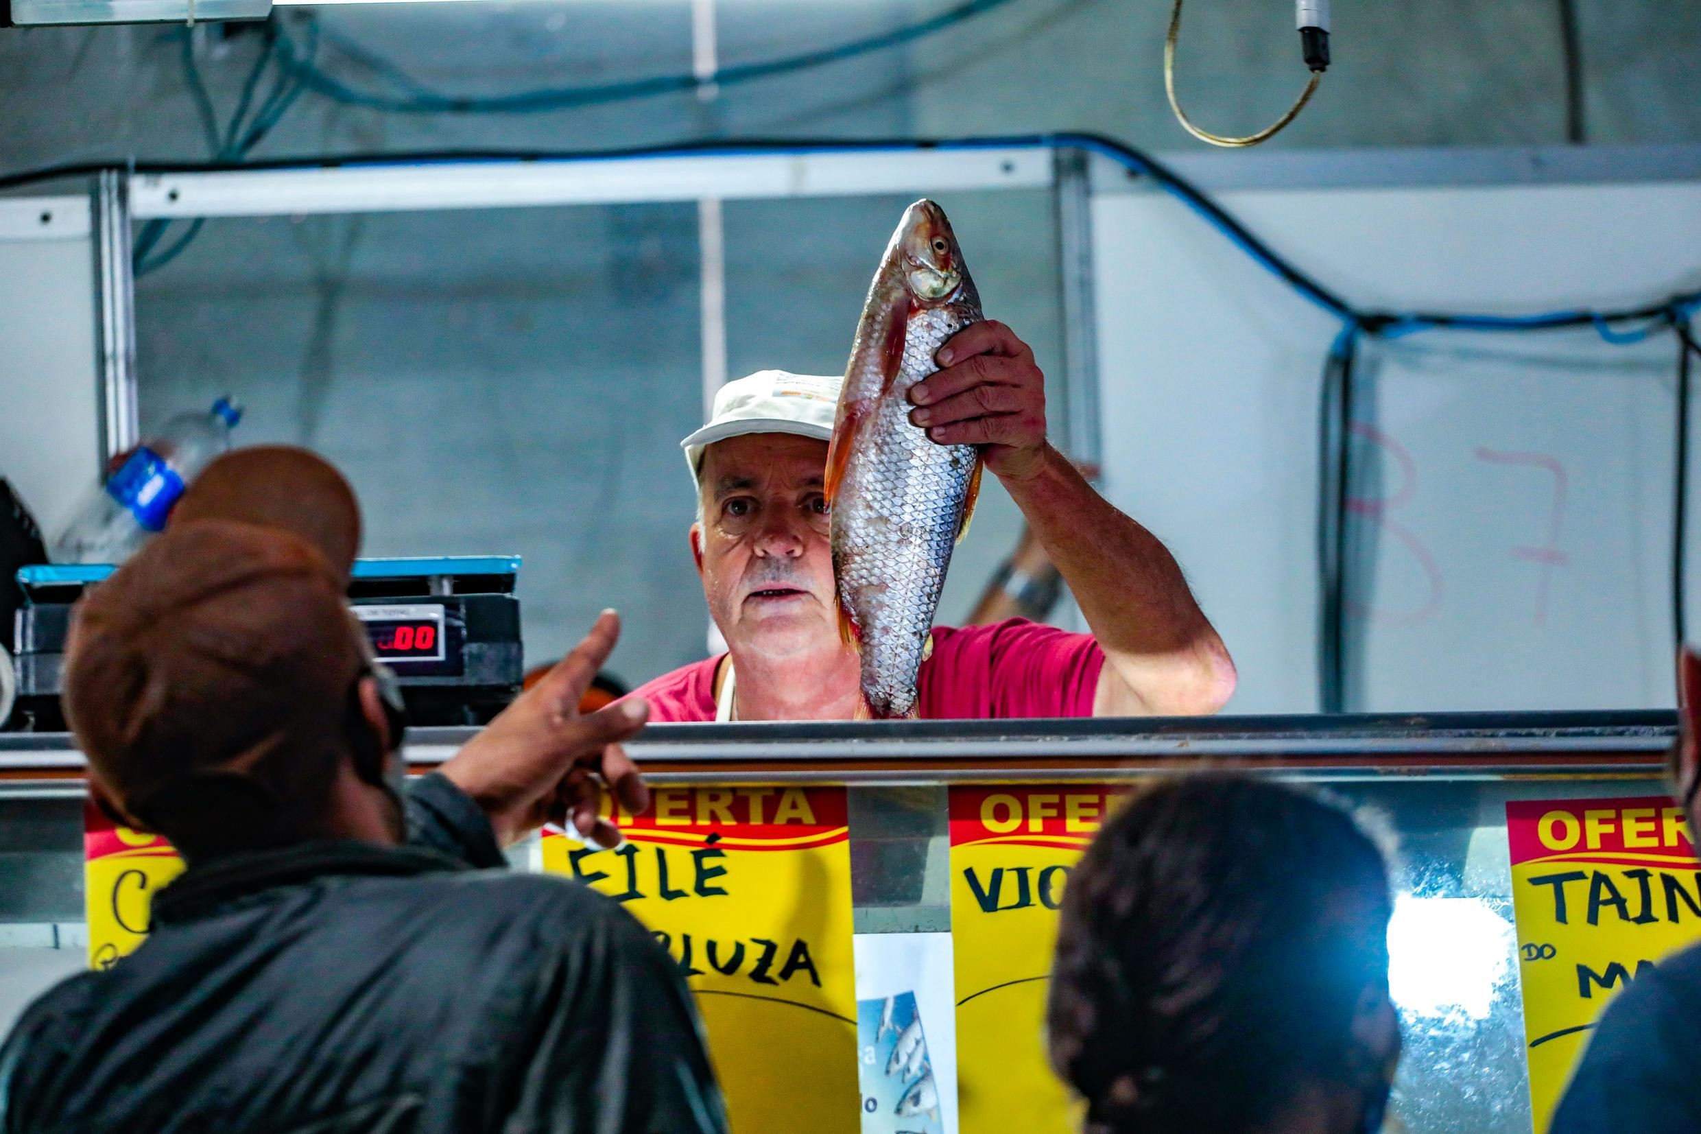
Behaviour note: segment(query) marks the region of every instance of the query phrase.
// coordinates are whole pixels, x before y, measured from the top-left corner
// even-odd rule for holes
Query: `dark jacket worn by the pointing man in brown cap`
[[[408,813],[408,847],[185,870],[134,954],[19,1020],[0,1131],[725,1134],[650,933],[585,886],[500,869],[441,775]]]

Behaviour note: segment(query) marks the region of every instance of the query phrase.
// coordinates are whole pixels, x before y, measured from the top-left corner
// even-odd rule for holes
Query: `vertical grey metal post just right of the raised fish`
[[[1058,265],[1063,275],[1063,417],[1068,457],[1099,464],[1099,321],[1092,284],[1089,155],[1058,150]]]

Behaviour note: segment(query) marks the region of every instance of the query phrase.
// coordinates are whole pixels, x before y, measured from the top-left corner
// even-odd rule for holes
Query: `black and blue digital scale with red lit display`
[[[60,711],[71,605],[112,566],[19,570],[14,656],[17,707],[10,728],[63,731]],[[373,653],[396,673],[410,724],[483,724],[521,690],[519,556],[356,559],[349,609]]]

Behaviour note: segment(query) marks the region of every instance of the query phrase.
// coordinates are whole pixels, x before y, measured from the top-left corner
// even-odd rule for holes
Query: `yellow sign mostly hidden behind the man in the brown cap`
[[[111,969],[148,935],[153,894],[184,872],[184,860],[158,835],[117,826],[83,804],[83,894],[88,966]]]

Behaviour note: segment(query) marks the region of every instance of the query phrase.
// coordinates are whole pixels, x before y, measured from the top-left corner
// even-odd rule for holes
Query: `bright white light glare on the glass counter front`
[[[1510,967],[1512,925],[1482,898],[1395,899],[1388,993],[1402,1012],[1485,1020]]]

